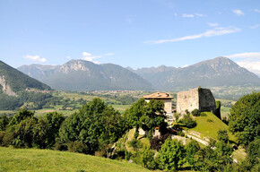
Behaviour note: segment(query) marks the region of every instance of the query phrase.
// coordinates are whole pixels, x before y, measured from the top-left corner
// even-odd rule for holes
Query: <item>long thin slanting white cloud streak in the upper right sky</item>
[[[234,32],[238,32],[240,29],[236,27],[219,27],[219,28],[214,28],[213,30],[207,30],[203,33],[199,33],[196,35],[188,35],[185,37],[180,37],[177,39],[160,39],[160,40],[151,40],[151,41],[146,41],[144,43],[152,43],[152,44],[161,44],[161,43],[166,43],[166,42],[178,42],[178,41],[183,41],[183,40],[188,40],[188,39],[201,39],[204,37],[213,37],[213,36],[220,36],[220,35],[225,35],[225,34],[230,34]]]

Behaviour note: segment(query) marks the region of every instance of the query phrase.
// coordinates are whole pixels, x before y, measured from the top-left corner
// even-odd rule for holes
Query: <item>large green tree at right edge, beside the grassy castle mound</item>
[[[230,109],[230,132],[238,136],[238,142],[248,145],[260,133],[260,92],[248,94]]]

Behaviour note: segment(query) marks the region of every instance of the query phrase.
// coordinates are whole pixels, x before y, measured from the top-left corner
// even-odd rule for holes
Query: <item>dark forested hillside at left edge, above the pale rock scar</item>
[[[25,90],[26,88],[35,88],[39,90],[50,90],[48,85],[43,84],[26,74],[19,72],[8,64],[0,61],[0,76],[4,76],[5,81],[10,85],[14,92]]]

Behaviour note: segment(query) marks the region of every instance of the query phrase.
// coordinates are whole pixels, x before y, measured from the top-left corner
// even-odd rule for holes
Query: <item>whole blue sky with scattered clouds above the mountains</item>
[[[2,0],[0,60],[134,69],[228,56],[260,75],[259,0]]]

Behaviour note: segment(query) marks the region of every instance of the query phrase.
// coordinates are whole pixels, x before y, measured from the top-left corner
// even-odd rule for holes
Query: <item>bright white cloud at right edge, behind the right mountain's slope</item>
[[[234,58],[238,65],[260,76],[260,52],[240,53],[226,57]]]

